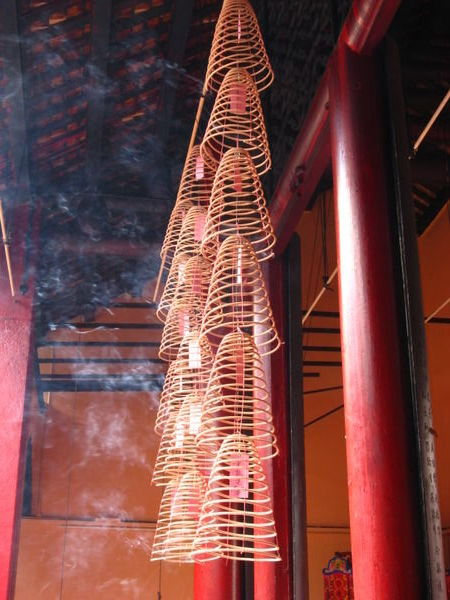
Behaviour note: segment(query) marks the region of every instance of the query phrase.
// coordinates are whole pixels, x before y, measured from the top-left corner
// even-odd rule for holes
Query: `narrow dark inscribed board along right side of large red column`
[[[433,321],[445,302],[424,323],[422,306],[421,276],[417,248],[417,233],[414,205],[411,198],[411,172],[408,156],[408,133],[402,89],[402,70],[398,49],[389,40],[386,45],[385,68],[388,81],[388,103],[392,141],[393,184],[397,215],[396,239],[400,262],[400,277],[397,293],[401,298],[401,314],[404,321],[402,356],[409,380],[409,397],[414,413],[416,435],[416,469],[419,472],[421,497],[421,522],[424,560],[427,575],[427,597],[445,600],[444,553],[441,535],[439,491],[437,487],[436,456],[428,361],[425,338],[425,323]],[[450,299],[448,300],[450,301]],[[430,319],[431,317],[431,319]],[[450,322],[450,319],[449,319]]]

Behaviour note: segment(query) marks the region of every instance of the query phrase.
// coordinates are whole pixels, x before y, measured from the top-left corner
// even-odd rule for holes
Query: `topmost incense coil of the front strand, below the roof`
[[[226,73],[234,67],[246,69],[260,92],[273,81],[258,20],[247,0],[223,3],[206,71],[208,88],[217,92]]]

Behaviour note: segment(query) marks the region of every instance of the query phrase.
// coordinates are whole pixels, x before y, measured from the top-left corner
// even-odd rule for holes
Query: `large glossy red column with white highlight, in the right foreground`
[[[408,399],[402,378],[376,58],[342,42],[330,70],[345,427],[357,600],[424,598]]]

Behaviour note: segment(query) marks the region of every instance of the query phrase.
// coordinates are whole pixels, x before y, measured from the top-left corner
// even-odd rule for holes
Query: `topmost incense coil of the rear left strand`
[[[181,175],[177,204],[188,201],[196,206],[206,206],[211,196],[213,179],[214,173],[200,154],[200,146],[193,146]]]

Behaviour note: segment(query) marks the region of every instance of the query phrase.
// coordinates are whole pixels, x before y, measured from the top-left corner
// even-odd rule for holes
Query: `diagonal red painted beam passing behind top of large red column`
[[[355,52],[370,54],[386,35],[399,4],[400,0],[355,0],[342,28],[341,42]],[[328,66],[272,198],[270,214],[278,237],[277,254],[286,247],[331,161],[329,72]]]

